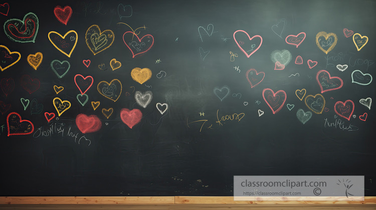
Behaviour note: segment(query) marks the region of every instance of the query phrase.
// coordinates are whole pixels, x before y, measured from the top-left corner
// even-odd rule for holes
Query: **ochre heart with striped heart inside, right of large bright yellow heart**
[[[107,49],[115,40],[112,30],[104,30],[101,32],[98,25],[92,25],[86,30],[86,44],[94,55]]]

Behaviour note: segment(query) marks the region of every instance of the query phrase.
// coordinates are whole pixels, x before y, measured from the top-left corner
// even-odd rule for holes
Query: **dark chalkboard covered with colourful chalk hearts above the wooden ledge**
[[[0,195],[232,196],[234,175],[364,175],[371,0],[0,4]]]

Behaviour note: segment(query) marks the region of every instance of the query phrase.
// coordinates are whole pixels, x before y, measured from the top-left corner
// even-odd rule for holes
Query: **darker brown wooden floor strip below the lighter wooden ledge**
[[[261,209],[261,210],[369,210],[376,204],[1,204],[0,209],[134,209],[134,210],[225,210],[225,209]]]

